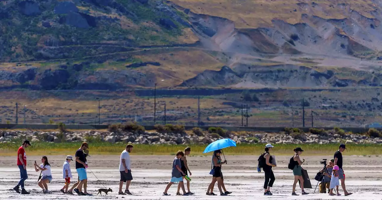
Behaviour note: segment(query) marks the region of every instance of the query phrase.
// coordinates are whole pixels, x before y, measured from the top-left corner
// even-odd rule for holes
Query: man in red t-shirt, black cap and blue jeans
[[[25,148],[31,146],[31,143],[28,140],[25,140],[23,142],[23,145],[19,147],[17,150],[17,166],[20,170],[20,181],[19,183],[13,188],[17,193],[20,193],[19,186],[21,186],[21,194],[30,194],[24,189],[24,181],[28,179],[28,174],[26,173],[26,154],[25,154]]]

